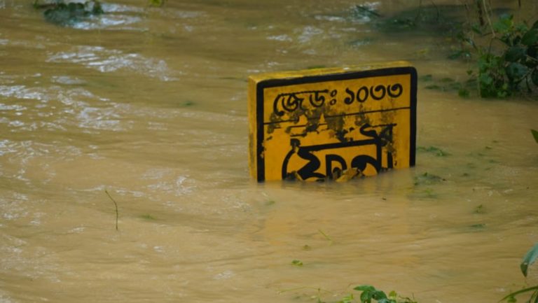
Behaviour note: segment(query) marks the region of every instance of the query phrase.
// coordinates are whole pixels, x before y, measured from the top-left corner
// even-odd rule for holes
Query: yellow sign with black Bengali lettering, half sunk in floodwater
[[[413,166],[416,78],[406,62],[251,76],[251,175],[318,181]]]

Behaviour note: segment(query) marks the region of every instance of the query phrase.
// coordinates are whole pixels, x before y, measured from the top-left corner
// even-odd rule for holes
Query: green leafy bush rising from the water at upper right
[[[468,73],[476,80],[481,97],[504,98],[538,89],[538,20],[529,27],[514,22],[512,15],[504,15],[494,23],[471,24],[457,38],[462,49],[450,59],[476,55],[478,70]]]

